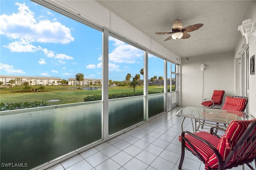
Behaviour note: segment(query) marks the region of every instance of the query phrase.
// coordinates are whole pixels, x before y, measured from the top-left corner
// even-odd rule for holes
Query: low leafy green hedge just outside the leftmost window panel
[[[10,111],[10,110],[16,110],[16,109],[26,109],[26,108],[43,107],[43,106],[50,106],[50,104],[45,103],[44,101],[0,103],[1,111]]]

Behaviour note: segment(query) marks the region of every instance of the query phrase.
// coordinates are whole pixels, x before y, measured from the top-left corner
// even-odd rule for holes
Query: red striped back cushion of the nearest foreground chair
[[[255,119],[254,119],[255,120]],[[238,141],[238,139],[242,136],[242,134],[244,133],[244,131],[246,130],[246,128],[250,125],[250,123],[252,123],[252,121],[254,120],[249,120],[249,121],[232,121],[232,123],[230,123],[230,125],[228,126],[226,133],[221,137],[220,139],[220,143],[218,145],[218,151],[220,152],[220,155],[222,156],[222,160],[226,159],[226,156],[228,156],[230,150],[233,148],[233,146],[236,144],[236,142]],[[252,130],[253,132],[255,132],[256,129]],[[252,132],[252,133],[253,133]],[[251,133],[251,134],[252,134]],[[250,135],[251,135],[250,134]],[[249,136],[250,136],[249,135]],[[245,145],[245,144],[244,144]],[[242,145],[241,147],[244,147],[244,145]],[[256,145],[256,141],[254,140],[254,145]],[[240,156],[240,158],[236,158],[237,154],[234,154],[234,156],[232,157],[232,159],[230,159],[230,161],[228,162],[227,166],[229,164],[232,164],[234,162],[238,162],[241,161],[245,158],[252,158],[253,156],[255,156],[256,153],[256,148],[255,147],[251,147],[251,148],[247,148],[247,150],[244,151],[244,153],[248,153],[248,150],[253,149],[255,150],[254,154],[251,155],[246,155],[246,154],[242,154]],[[218,160],[216,158],[216,155],[213,154],[207,164],[211,167],[211,168],[218,168]]]

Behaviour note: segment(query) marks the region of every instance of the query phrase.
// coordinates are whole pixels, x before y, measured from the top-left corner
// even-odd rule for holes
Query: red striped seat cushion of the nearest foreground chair
[[[194,133],[197,136],[200,136],[201,138],[210,141],[214,147],[218,148],[218,145],[220,143],[220,139],[213,136],[212,134],[208,133],[208,132],[196,132]],[[210,156],[212,156],[214,154],[214,152],[211,150],[211,148],[206,145],[204,142],[190,136],[189,134],[185,134],[185,138],[188,139],[189,142],[191,142],[191,144],[196,148],[196,150],[200,153],[200,155],[202,156],[202,158],[205,160],[205,162],[208,161],[208,159],[210,158]],[[179,140],[181,142],[181,135],[179,136]],[[185,146],[187,148],[189,148],[192,152],[192,148],[189,146],[189,144],[187,142],[185,142]]]

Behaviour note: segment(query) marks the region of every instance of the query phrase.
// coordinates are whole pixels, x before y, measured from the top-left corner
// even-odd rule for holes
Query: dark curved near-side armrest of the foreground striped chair
[[[188,135],[204,142],[206,145],[208,145],[211,150],[214,152],[214,154],[216,155],[216,158],[219,162],[219,165],[221,164],[221,162],[223,162],[221,156],[220,156],[220,153],[218,152],[217,148],[215,148],[209,141],[197,136],[196,134],[192,133],[192,132],[189,132],[189,131],[185,131],[185,132],[182,132],[181,134],[181,137],[182,137],[182,142],[184,143],[185,141],[187,142],[187,144],[192,148],[193,152],[196,154],[196,156],[198,156],[198,158],[200,158],[201,160],[204,160],[202,158],[202,156],[200,155],[200,153],[196,150],[196,148],[186,139],[185,137],[185,133],[187,133]]]

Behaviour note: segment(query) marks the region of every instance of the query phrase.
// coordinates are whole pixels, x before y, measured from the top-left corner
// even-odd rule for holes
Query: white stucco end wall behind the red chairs
[[[200,65],[204,64],[204,83]],[[181,105],[202,107],[202,98],[211,98],[214,90],[234,95],[234,53],[182,58]],[[202,94],[203,92],[203,94]]]

